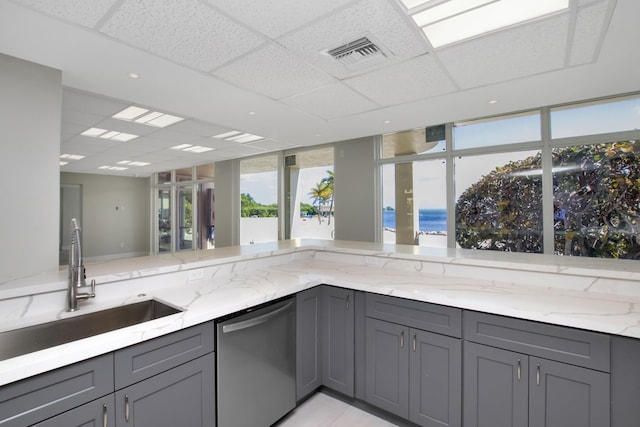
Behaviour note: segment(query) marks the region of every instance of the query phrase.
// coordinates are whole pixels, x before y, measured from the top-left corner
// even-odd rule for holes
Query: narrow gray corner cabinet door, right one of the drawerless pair
[[[354,375],[354,291],[323,287],[322,383],[353,397]]]

